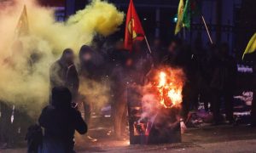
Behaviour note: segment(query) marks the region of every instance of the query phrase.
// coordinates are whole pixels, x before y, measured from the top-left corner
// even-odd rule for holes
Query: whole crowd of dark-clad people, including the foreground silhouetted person
[[[86,133],[84,120],[89,124],[93,105],[79,93],[79,84],[86,79],[100,82],[108,77],[111,82],[112,96],[109,102],[112,106],[114,134],[117,139],[125,137],[126,90],[132,85],[143,85],[148,72],[160,66],[181,68],[185,73],[183,120],[187,120],[189,111],[198,109],[201,101],[205,111],[212,114],[213,125],[234,123],[233,95],[237,68],[228,44],[211,44],[208,48],[202,48],[201,43],[196,43],[191,47],[176,38],[166,47],[156,38],[151,45],[152,53],[144,42],[134,42],[131,51],[124,48],[122,41],[112,46],[103,49],[84,45],[80,48],[78,62],[73,50],[67,48],[61,58],[51,65],[49,80],[52,94],[49,96],[49,105],[38,120],[39,125],[45,128],[43,148],[73,150],[74,131]],[[220,113],[222,102],[225,118]],[[84,119],[78,111],[77,105],[80,103],[84,104]]]

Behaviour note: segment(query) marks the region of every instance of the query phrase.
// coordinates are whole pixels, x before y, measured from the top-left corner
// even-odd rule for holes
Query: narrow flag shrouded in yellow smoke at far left
[[[15,32],[18,35],[18,37],[20,37],[20,35],[28,34],[28,31],[29,31],[29,27],[28,27],[26,5],[24,5],[22,13],[20,14],[20,19],[15,29]]]

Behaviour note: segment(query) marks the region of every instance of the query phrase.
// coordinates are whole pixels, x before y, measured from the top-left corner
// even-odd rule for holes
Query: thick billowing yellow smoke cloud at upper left
[[[17,37],[15,27],[26,4],[29,34]],[[55,22],[54,10],[36,2],[0,3],[0,99],[38,115],[49,99],[49,66],[62,50],[90,44],[119,30],[124,14],[113,4],[94,0],[67,22]]]

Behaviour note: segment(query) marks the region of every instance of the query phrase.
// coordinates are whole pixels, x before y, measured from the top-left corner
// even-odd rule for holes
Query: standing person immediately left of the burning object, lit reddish
[[[121,139],[125,135],[127,114],[127,88],[132,84],[133,60],[129,52],[123,51],[119,56],[120,64],[115,66],[110,76],[113,94],[113,127],[115,136]]]

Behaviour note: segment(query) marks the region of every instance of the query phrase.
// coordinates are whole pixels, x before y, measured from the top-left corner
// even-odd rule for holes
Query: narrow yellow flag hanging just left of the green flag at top
[[[177,7],[177,24],[175,28],[175,35],[183,28],[183,10],[184,10],[184,3],[183,0],[179,1]]]

